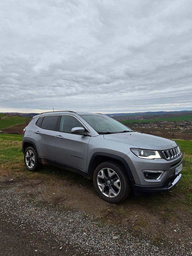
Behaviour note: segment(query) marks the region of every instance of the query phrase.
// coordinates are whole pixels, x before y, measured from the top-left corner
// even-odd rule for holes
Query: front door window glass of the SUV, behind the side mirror
[[[74,127],[85,128],[74,116],[71,116],[71,115],[61,116],[59,131],[71,133],[71,129]]]

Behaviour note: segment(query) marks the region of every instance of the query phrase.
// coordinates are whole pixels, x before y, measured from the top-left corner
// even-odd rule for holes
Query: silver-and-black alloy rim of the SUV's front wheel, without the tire
[[[121,182],[117,173],[110,168],[103,168],[97,175],[97,185],[101,193],[107,197],[116,197],[121,190]]]

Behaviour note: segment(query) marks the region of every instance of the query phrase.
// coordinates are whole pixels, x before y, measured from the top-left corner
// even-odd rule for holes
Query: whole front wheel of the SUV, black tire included
[[[124,166],[115,161],[99,164],[93,175],[93,183],[99,196],[110,203],[123,201],[131,192],[131,183]]]

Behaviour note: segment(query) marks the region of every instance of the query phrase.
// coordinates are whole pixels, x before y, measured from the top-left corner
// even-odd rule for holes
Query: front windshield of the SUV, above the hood
[[[127,126],[106,115],[81,115],[81,117],[98,133],[132,131]]]

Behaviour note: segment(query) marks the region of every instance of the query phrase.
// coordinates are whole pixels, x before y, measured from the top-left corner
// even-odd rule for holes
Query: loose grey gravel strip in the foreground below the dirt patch
[[[185,243],[167,241],[157,245],[144,232],[106,224],[85,212],[45,204],[40,199],[28,198],[17,188],[1,189],[0,198],[0,221],[7,223],[6,230],[14,227],[28,235],[26,230],[30,227],[34,239],[44,237],[41,243],[46,247],[36,242],[31,255],[192,255]]]

